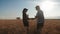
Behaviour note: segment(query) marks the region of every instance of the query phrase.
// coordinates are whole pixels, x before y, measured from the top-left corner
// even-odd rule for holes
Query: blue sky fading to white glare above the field
[[[29,18],[36,16],[35,6],[39,5],[45,19],[60,19],[60,0],[0,0],[0,19],[22,18],[24,8]]]

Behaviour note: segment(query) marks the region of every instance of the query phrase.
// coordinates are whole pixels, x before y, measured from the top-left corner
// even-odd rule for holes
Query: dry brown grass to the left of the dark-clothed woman
[[[0,20],[0,34],[25,34],[21,20]]]

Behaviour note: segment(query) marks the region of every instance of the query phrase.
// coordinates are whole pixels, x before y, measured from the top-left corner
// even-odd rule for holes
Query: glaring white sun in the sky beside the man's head
[[[44,11],[52,10],[53,7],[54,7],[53,2],[51,2],[51,1],[44,1],[39,5],[40,5],[41,9],[44,10]]]

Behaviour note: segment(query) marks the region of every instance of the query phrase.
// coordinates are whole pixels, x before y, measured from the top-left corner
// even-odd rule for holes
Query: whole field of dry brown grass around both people
[[[29,33],[36,31],[36,20],[29,20]],[[42,34],[60,34],[60,20],[45,20]],[[22,20],[0,20],[0,34],[26,34]]]

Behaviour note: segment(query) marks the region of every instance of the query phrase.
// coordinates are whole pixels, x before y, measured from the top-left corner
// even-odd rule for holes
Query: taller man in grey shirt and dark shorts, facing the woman
[[[40,31],[44,25],[44,15],[38,5],[35,8],[37,10],[37,14],[35,16],[35,18],[37,19],[37,34],[40,34],[41,33]]]

